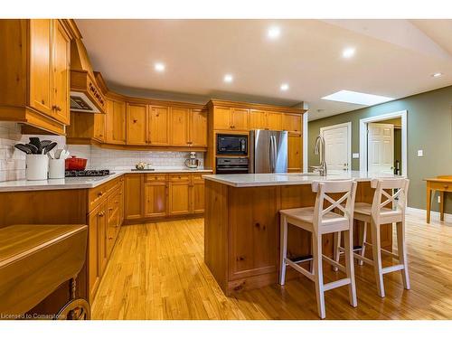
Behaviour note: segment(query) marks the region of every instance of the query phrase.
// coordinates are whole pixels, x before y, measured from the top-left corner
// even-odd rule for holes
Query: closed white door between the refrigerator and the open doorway
[[[320,128],[325,138],[325,161],[328,171],[350,171],[352,169],[352,124]]]

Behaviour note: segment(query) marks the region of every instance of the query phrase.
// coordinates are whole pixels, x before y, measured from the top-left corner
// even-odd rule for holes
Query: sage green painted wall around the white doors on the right
[[[361,108],[334,117],[309,121],[308,165],[318,165],[313,154],[315,137],[320,127],[352,122],[352,152],[359,153],[359,121],[361,118],[408,111],[408,176],[410,178],[409,206],[426,208],[426,184],[423,178],[452,174],[452,86],[428,91],[404,99]],[[418,157],[418,149],[424,156]],[[352,159],[353,170],[359,170],[360,159]],[[438,211],[437,197],[432,209]],[[446,211],[452,213],[452,194],[447,194]]]

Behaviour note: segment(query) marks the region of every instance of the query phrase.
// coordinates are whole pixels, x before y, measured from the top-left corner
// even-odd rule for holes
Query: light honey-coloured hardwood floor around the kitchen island
[[[435,218],[433,218],[435,219]],[[98,295],[93,319],[318,319],[306,278],[225,297],[203,263],[203,220],[124,226]],[[372,267],[355,266],[358,307],[347,287],[325,294],[326,319],[452,318],[452,224],[407,216],[411,290],[400,272],[384,276],[377,296]],[[328,278],[336,274],[325,265]],[[340,274],[340,273],[339,273]]]

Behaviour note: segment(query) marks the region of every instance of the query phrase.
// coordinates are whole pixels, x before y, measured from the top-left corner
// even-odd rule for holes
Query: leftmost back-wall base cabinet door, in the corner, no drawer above
[[[124,176],[124,218],[140,219],[143,216],[144,174],[125,174]]]

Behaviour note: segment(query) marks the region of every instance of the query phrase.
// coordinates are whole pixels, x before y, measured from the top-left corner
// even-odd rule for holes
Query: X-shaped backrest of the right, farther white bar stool
[[[376,220],[381,215],[381,209],[384,207],[405,215],[409,185],[410,180],[406,178],[373,179],[371,182],[371,187],[375,189],[372,201],[373,219]],[[397,192],[390,194],[385,190]]]

